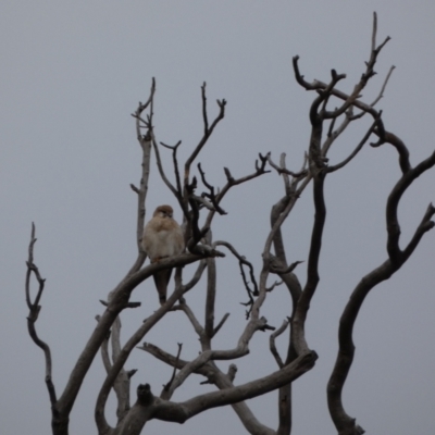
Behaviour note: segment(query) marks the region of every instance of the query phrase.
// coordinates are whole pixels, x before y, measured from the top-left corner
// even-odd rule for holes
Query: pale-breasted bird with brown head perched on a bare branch
[[[173,213],[171,206],[159,206],[152,214],[152,219],[145,226],[141,246],[151,263],[184,251],[183,229],[172,217]],[[166,302],[172,269],[164,269],[153,274],[160,304]]]

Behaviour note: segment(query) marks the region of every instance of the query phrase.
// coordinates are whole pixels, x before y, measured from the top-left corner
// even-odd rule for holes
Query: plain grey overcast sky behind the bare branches
[[[432,0],[364,1],[9,1],[0,5],[0,420],[2,434],[50,433],[42,352],[28,337],[24,299],[25,260],[30,224],[36,223],[36,264],[47,287],[37,331],[52,349],[58,394],[103,307],[99,299],[117,284],[135,259],[136,197],[140,149],[130,113],[157,79],[158,140],[183,140],[181,158],[201,137],[200,86],[208,84],[210,117],[225,98],[226,116],[200,157],[209,179],[225,182],[248,174],[259,152],[287,153],[298,170],[309,139],[308,109],[313,95],[294,79],[291,57],[300,55],[308,80],[327,82],[330,70],[346,73],[339,87],[359,79],[371,44],[372,14],[378,14],[378,41],[387,44],[376,77],[364,91],[371,102],[391,65],[396,70],[383,109],[386,128],[407,144],[417,164],[435,148],[435,3]],[[355,147],[369,120],[338,141],[331,161]],[[170,154],[165,167],[171,169]],[[364,148],[359,158],[326,181],[327,222],[321,284],[312,302],[307,336],[320,358],[295,383],[296,435],[334,434],[325,388],[337,350],[338,318],[365,273],[386,258],[384,209],[398,179],[391,147]],[[435,171],[420,177],[399,208],[403,241],[427,203],[435,201]],[[261,265],[272,204],[283,195],[282,179],[269,174],[228,195],[214,238],[226,239]],[[149,213],[175,206],[152,167]],[[307,189],[285,225],[289,261],[306,260],[313,209]],[[181,219],[181,211],[175,210]],[[428,233],[409,262],[373,289],[357,322],[356,360],[345,387],[345,407],[369,434],[435,433],[434,256]],[[189,270],[188,270],[189,271]],[[188,273],[188,271],[186,273]],[[245,324],[246,300],[237,264],[219,260],[216,318],[231,318],[215,348],[229,348]],[[298,271],[304,281],[304,266]],[[202,319],[204,288],[187,296]],[[138,287],[142,306],[123,315],[123,339],[158,308],[153,284]],[[263,310],[275,326],[290,313],[287,291],[278,287]],[[199,344],[182,313],[172,313],[146,337],[184,359]],[[283,338],[281,350],[285,352]],[[237,361],[236,383],[276,370],[269,335],[258,333],[246,361]],[[220,364],[226,370],[227,364]],[[159,393],[171,370],[137,350],[127,369],[139,369],[133,388],[150,383]],[[103,380],[96,358],[71,418],[71,434],[96,433],[94,407]],[[181,401],[211,386],[189,381],[175,394]],[[276,394],[250,400],[260,421],[277,426]],[[114,422],[113,402],[109,420]],[[206,412],[184,425],[150,422],[147,434],[244,433],[231,408]]]

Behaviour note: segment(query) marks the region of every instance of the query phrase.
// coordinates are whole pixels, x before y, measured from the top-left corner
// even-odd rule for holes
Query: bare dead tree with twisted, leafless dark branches
[[[177,158],[181,141],[175,146],[169,146],[163,142],[159,144],[156,138],[153,127],[156,83],[152,80],[148,100],[145,103],[139,103],[133,114],[136,122],[137,139],[142,151],[140,185],[138,187],[130,186],[138,198],[137,258],[125,277],[110,291],[108,300],[101,301],[105,310],[101,315],[97,316],[97,325],[79,355],[71,372],[70,380],[60,396],[58,396],[52,381],[50,348],[38,337],[35,327],[40,311],[45,279],[41,277],[34,262],[36,238],[35,226],[33,225],[25,285],[26,301],[29,308],[27,322],[30,337],[45,352],[46,383],[51,403],[52,432],[54,435],[66,435],[69,433],[70,413],[74,407],[84,377],[99,351],[101,352],[103,365],[107,371],[107,377],[97,397],[95,408],[95,420],[100,435],[136,435],[142,432],[145,424],[151,419],[183,423],[208,409],[228,405],[233,407],[246,431],[250,434],[290,434],[291,383],[310,371],[318,358],[315,351],[310,349],[307,343],[304,324],[311,300],[315,295],[320,282],[319,263],[326,219],[324,198],[325,179],[326,176],[352,161],[369,139],[374,136],[376,137],[376,141],[370,144],[372,147],[375,148],[385,144],[395,147],[401,170],[401,176],[393,187],[386,203],[387,256],[382,264],[361,278],[341,314],[338,326],[339,350],[327,385],[327,403],[331,418],[338,434],[357,435],[364,432],[356,423],[356,419],[346,412],[341,397],[341,391],[353,360],[353,324],[370,290],[397,272],[412,254],[423,235],[434,226],[434,222],[431,219],[435,213],[435,208],[430,204],[423,214],[421,223],[414,229],[411,239],[405,244],[403,248],[399,246],[400,224],[397,210],[400,199],[417,177],[435,165],[435,152],[415,166],[412,166],[406,145],[399,137],[386,129],[382,120],[382,112],[375,109],[375,104],[383,97],[394,67],[388,72],[378,97],[372,103],[361,100],[361,91],[375,74],[374,66],[377,57],[389,39],[386,38],[381,45],[377,45],[376,27],[376,14],[374,14],[370,58],[365,62],[365,71],[363,71],[360,80],[355,85],[351,94],[345,94],[337,89],[338,83],[345,79],[346,75],[338,74],[335,70],[332,70],[331,78],[327,83],[319,80],[307,82],[299,70],[299,57],[294,58],[293,67],[297,83],[306,90],[314,91],[315,94],[309,111],[311,137],[308,150],[303,157],[303,163],[298,171],[290,171],[286,167],[284,153],[281,156],[279,163],[274,162],[272,156],[266,153],[264,156],[259,154],[259,160],[256,161],[253,171],[239,178],[234,177],[229,170],[225,167],[226,184],[219,189],[208,182],[200,163],[197,164],[198,177],[192,175],[194,164],[197,162],[201,150],[207,145],[217,124],[224,119],[226,107],[225,100],[217,100],[217,115],[210,122],[206,84],[203,84],[201,87],[203,135],[198,145],[192,149],[181,173]],[[333,104],[337,105],[331,109]],[[356,142],[353,150],[345,160],[330,163],[328,151],[336,139],[351,123],[358,122],[363,116],[370,116],[372,120],[363,137]],[[163,170],[160,154],[161,147],[167,148],[172,152],[175,183],[171,183],[170,177]],[[160,176],[183,211],[183,227],[187,251],[152,264],[144,265],[147,256],[141,248],[141,237],[146,217],[146,201],[152,152]],[[229,189],[248,183],[253,178],[261,177],[271,171],[276,171],[282,176],[284,192],[272,207],[271,227],[262,250],[262,268],[259,273],[256,273],[251,262],[237,251],[234,244],[226,240],[214,240],[211,228],[216,213],[226,213],[223,207],[225,196]],[[197,190],[200,185],[203,191],[198,195]],[[301,283],[295,273],[295,269],[301,261],[296,261],[291,264],[288,263],[286,243],[282,235],[282,225],[309,185],[312,186],[315,215],[307,259],[307,281],[306,283]],[[244,330],[239,332],[238,340],[234,348],[215,349],[213,338],[229,315],[225,314],[219,323],[214,320],[215,297],[219,290],[216,285],[216,262],[219,262],[220,257],[225,256],[224,252],[233,256],[240,268],[243,285],[246,288],[248,298],[246,302],[247,322]],[[189,276],[186,275],[188,275],[190,269],[183,269],[187,264],[194,264],[196,268]],[[139,306],[138,302],[130,300],[134,290],[156,272],[170,268],[176,268],[173,293],[169,296],[166,302],[146,319],[129,339],[122,345],[120,339],[120,315],[125,309]],[[35,297],[30,295],[32,275],[36,277],[39,284]],[[277,275],[281,283],[275,282],[274,284],[270,284],[271,275],[272,277]],[[201,321],[198,313],[194,313],[184,295],[192,289],[202,276],[207,279],[207,299]],[[282,326],[275,330],[268,324],[266,319],[261,314],[261,310],[270,291],[278,284],[284,284],[287,287],[293,303],[291,312],[288,312],[288,319],[284,320]],[[186,315],[195,333],[198,335],[201,351],[192,360],[182,359],[182,345],[178,345],[177,355],[171,355],[150,343],[144,343],[139,346],[147,333],[158,322],[164,322],[167,312],[175,310],[182,311]],[[126,313],[123,314],[127,315]],[[289,330],[289,339],[286,355],[283,358],[275,346],[275,338],[287,330]],[[268,375],[254,378],[243,385],[236,385],[235,376],[237,366],[231,363],[228,371],[223,372],[216,365],[216,361],[234,361],[247,356],[249,353],[250,340],[259,331],[273,331],[270,335],[270,351],[276,361],[277,370],[274,371],[271,368]],[[112,349],[111,355],[110,347]],[[130,377],[136,371],[126,371],[124,368],[134,349],[141,349],[164,364],[170,365],[173,368],[173,374],[160,391],[160,395],[154,396],[149,384],[139,385],[136,391],[136,401],[132,406]],[[172,397],[175,390],[191,374],[203,376],[203,383],[214,385],[216,390],[199,394],[183,402],[173,401]],[[112,389],[117,399],[117,423],[115,427],[110,426],[104,411],[109,394]],[[246,400],[274,390],[278,390],[277,409],[279,418],[276,427],[272,428],[265,426],[256,418],[246,403]]]

